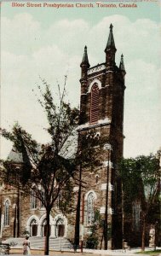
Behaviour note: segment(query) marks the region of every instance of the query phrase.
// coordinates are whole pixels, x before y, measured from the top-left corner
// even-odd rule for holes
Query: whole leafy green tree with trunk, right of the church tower
[[[152,209],[156,207],[159,209],[159,162],[152,154],[141,155],[135,159],[121,160],[118,169],[123,182],[123,217],[127,222],[132,221],[129,205],[137,199],[141,201],[141,249],[144,251],[147,224],[155,223],[158,218]]]

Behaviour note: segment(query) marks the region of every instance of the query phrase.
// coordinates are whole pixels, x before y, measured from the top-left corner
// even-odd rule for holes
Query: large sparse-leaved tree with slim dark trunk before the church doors
[[[39,145],[32,136],[19,124],[12,131],[1,129],[1,134],[10,140],[14,148],[22,154],[23,163],[17,167],[14,162],[3,161],[4,181],[34,195],[42,202],[46,210],[47,232],[44,254],[49,255],[49,214],[60,197],[60,210],[64,211],[72,205],[72,183],[76,164],[74,155],[69,160],[73,137],[76,134],[79,111],[65,102],[66,78],[62,93],[59,88],[59,102],[52,96],[49,84],[42,80],[44,90],[38,86],[41,98],[38,102],[46,113],[49,127],[46,129],[51,143]],[[77,142],[76,142],[77,143]],[[66,155],[66,158],[65,158]],[[12,178],[11,178],[12,177]]]

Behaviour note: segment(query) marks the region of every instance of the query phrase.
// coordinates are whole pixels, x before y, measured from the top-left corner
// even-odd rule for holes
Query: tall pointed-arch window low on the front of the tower
[[[90,192],[87,197],[87,224],[92,225],[94,222],[94,193]]]

